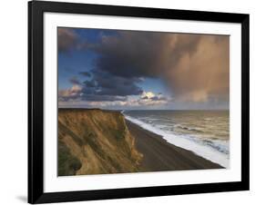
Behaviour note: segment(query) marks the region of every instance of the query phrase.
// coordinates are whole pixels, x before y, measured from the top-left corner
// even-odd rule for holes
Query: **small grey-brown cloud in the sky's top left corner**
[[[58,28],[57,29],[57,46],[59,52],[67,52],[76,46],[78,35],[73,29]]]

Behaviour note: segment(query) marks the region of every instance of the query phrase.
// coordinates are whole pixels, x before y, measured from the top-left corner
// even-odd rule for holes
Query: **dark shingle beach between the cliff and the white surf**
[[[182,171],[222,169],[219,164],[208,161],[192,151],[177,147],[161,136],[144,130],[126,120],[128,130],[135,138],[135,146],[143,154],[141,171]]]

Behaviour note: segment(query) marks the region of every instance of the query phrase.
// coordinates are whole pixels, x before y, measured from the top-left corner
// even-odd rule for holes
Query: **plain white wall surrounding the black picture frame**
[[[70,0],[71,1],[71,0]],[[256,5],[253,0],[73,0],[108,5],[206,10],[251,15],[251,190],[185,196],[87,201],[90,205],[120,204],[255,204],[256,201]],[[26,203],[27,181],[27,2],[2,1],[0,12],[0,204]],[[254,202],[253,202],[254,201]],[[82,204],[85,202],[76,202]],[[66,203],[67,204],[67,203]]]

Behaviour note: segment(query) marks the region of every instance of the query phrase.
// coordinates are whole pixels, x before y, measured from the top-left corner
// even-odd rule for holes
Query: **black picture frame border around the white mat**
[[[114,190],[44,192],[44,13],[133,16],[241,24],[241,181]],[[113,5],[28,3],[28,202],[104,200],[249,190],[249,15]]]

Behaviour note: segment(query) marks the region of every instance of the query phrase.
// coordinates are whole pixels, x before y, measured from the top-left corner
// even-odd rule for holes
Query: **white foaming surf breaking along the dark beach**
[[[165,132],[162,129],[158,129],[151,124],[141,122],[128,115],[125,115],[125,118],[130,122],[138,124],[138,126],[149,132],[154,132],[162,136],[163,139],[171,144],[192,151],[209,161],[213,161],[225,168],[229,168],[229,142],[205,140],[184,134],[178,135],[171,132]]]

